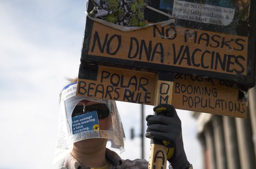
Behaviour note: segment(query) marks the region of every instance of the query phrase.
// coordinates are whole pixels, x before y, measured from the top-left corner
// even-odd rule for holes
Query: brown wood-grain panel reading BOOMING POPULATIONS
[[[246,118],[247,101],[228,82],[198,76],[174,76],[172,104],[176,108]],[[175,99],[174,99],[175,98]]]

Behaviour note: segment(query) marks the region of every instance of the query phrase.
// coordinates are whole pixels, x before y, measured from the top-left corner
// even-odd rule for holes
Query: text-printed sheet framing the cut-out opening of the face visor
[[[115,101],[77,96],[75,95],[76,87],[77,82],[68,84],[63,88],[61,93],[58,138],[52,163],[57,163],[59,160],[63,159],[68,153],[70,153],[73,149],[73,143],[92,138],[108,139],[109,141],[111,141],[111,147],[119,148],[120,153],[122,153],[124,151],[125,134]],[[89,130],[88,128],[76,129],[77,126],[75,126],[74,121],[72,121],[72,113],[77,103],[84,100],[104,103],[108,107],[109,116],[111,116],[112,122],[112,127],[109,130],[101,130],[100,126],[99,130],[95,128],[92,129],[92,127],[88,127]],[[86,117],[83,119],[86,119]],[[80,118],[80,122],[83,119]],[[98,120],[98,117],[96,117],[96,120]],[[88,122],[88,119],[86,121]]]

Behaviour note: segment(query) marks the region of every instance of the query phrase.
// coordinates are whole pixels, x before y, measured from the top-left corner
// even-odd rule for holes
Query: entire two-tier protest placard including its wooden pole
[[[246,118],[255,1],[87,2],[77,95]],[[164,152],[151,144],[148,168],[165,168]]]

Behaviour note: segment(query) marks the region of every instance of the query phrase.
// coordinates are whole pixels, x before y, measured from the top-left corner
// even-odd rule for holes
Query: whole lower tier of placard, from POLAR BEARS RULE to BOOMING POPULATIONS
[[[81,65],[76,95],[157,105],[246,118],[247,102],[239,89],[219,79],[185,74],[142,72],[105,66]]]

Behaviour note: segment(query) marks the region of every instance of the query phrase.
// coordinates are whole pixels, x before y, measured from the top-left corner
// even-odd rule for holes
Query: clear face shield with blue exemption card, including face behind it
[[[53,164],[73,149],[73,143],[93,138],[111,141],[111,147],[124,151],[124,129],[113,100],[76,96],[77,82],[61,93],[58,140]]]

